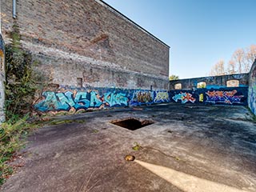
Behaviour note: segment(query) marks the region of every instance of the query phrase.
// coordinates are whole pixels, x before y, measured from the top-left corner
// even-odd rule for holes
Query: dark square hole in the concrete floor
[[[144,126],[149,126],[153,124],[153,121],[150,120],[138,120],[136,118],[127,118],[124,120],[114,120],[111,123],[117,126],[122,126],[128,130],[138,130]]]

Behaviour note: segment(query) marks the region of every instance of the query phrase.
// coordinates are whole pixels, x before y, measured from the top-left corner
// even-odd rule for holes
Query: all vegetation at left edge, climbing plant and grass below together
[[[15,152],[25,144],[26,135],[34,126],[26,122],[35,92],[43,86],[42,75],[34,71],[32,54],[22,49],[21,35],[14,24],[10,34],[12,43],[6,45],[6,122],[0,127],[0,186],[14,171],[10,162]]]

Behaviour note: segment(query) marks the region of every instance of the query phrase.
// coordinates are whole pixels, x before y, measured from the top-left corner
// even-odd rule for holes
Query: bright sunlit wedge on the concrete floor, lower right
[[[137,162],[139,165],[145,167],[147,170],[150,170],[152,173],[157,174],[159,177],[165,179],[174,186],[177,186],[184,192],[249,192],[246,190],[239,190],[232,186],[226,186],[218,182],[211,182],[204,178],[198,178],[177,170],[172,170],[165,166],[157,166],[139,160],[134,160],[134,162]]]

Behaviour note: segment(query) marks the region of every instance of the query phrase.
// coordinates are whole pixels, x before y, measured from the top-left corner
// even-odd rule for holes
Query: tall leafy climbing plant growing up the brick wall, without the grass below
[[[34,71],[36,62],[30,52],[23,50],[18,26],[13,26],[12,43],[6,45],[6,120],[16,122],[33,110],[35,92],[42,75]]]

